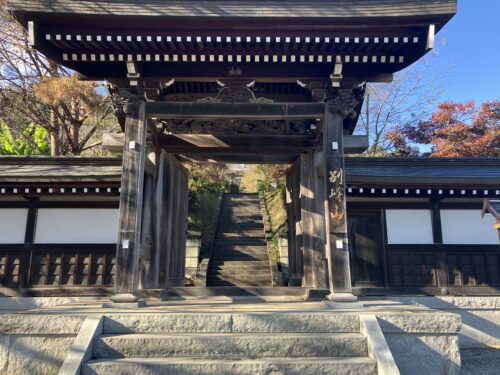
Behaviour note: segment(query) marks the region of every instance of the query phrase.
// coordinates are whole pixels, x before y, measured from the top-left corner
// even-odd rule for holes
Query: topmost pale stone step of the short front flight
[[[261,289],[272,290],[273,288]],[[335,314],[331,311],[167,314],[127,314],[117,312],[108,313],[104,318],[104,334],[359,333],[359,330],[358,315]]]

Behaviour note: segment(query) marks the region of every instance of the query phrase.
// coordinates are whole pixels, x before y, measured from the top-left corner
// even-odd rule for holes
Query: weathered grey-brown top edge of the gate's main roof
[[[456,12],[456,0],[168,1],[168,0],[10,0],[18,14],[56,13],[169,18],[285,18],[347,20],[442,17]]]

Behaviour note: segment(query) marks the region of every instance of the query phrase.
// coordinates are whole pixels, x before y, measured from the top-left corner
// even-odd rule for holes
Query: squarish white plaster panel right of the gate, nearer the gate
[[[389,244],[432,244],[430,210],[386,210]]]

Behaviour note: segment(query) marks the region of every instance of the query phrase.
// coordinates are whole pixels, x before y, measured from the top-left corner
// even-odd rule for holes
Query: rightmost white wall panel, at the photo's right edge
[[[450,245],[498,245],[495,218],[480,210],[441,210],[443,243]]]

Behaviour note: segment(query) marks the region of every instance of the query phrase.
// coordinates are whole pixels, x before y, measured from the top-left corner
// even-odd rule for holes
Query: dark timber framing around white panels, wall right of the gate
[[[350,252],[354,290],[363,295],[387,294],[500,294],[500,245],[445,244],[441,210],[474,210],[480,214],[479,198],[430,199],[360,198],[348,200],[351,229]],[[386,210],[428,210],[432,222],[432,244],[388,243]],[[372,218],[366,220],[366,218]],[[368,243],[356,243],[356,221],[376,227],[363,229]],[[466,223],[464,223],[466,225]],[[486,225],[486,224],[485,224]],[[359,230],[358,230],[359,232]],[[362,233],[363,234],[363,233]],[[362,235],[361,235],[362,236]],[[371,247],[368,251],[366,246]],[[377,254],[373,254],[375,251]],[[378,258],[377,258],[377,256]],[[376,258],[375,272],[363,259]],[[366,277],[366,275],[371,277]],[[363,277],[364,276],[364,277]]]

